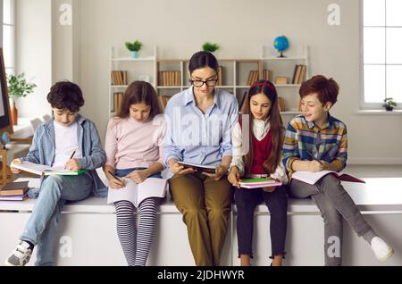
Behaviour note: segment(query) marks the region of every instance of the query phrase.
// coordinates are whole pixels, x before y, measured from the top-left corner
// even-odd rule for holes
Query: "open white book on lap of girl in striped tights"
[[[142,183],[135,183],[130,179],[123,179],[126,186],[120,189],[109,188],[107,203],[128,200],[138,208],[138,205],[148,197],[164,197],[166,195],[167,180],[148,178]]]

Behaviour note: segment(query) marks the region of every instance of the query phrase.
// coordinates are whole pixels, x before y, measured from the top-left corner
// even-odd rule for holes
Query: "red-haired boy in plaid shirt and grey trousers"
[[[322,75],[306,80],[299,90],[302,114],[289,122],[283,145],[283,164],[294,171],[342,171],[348,158],[346,125],[330,115],[337,102],[339,86],[334,79]],[[374,255],[385,261],[393,249],[377,236],[364,220],[354,201],[340,181],[329,174],[314,185],[292,179],[289,195],[297,198],[311,196],[324,221],[325,265],[342,263],[342,222],[345,218],[359,237],[373,249]],[[336,252],[331,246],[340,245]]]

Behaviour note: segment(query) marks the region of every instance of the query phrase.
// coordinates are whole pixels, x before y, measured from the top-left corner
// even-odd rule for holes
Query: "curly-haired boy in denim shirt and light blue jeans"
[[[58,82],[50,89],[47,101],[53,118],[39,126],[26,157],[14,163],[61,166],[70,171],[85,169],[78,176],[52,175],[42,177],[40,188],[29,190],[29,197],[38,201],[21,234],[18,246],[5,260],[5,265],[23,266],[29,262],[34,246],[36,265],[53,264],[54,237],[66,201],[87,198],[91,192],[105,197],[107,188],[96,174],[106,161],[96,126],[78,112],[84,105],[80,87],[71,82]],[[19,170],[12,168],[13,173]]]

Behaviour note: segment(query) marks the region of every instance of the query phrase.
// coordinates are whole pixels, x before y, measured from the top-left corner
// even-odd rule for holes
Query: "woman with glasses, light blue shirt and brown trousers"
[[[189,63],[191,87],[172,96],[165,109],[165,163],[173,201],[187,225],[197,265],[219,265],[228,230],[231,187],[225,178],[231,161],[230,129],[237,121],[236,97],[215,88],[218,62],[209,52]],[[215,166],[215,173],[184,169],[178,161]]]

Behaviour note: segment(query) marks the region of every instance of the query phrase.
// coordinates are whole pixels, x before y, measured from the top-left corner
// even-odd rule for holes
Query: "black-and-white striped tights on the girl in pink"
[[[117,235],[129,266],[145,266],[155,236],[156,212],[159,198],[147,198],[137,209],[130,201],[119,201],[114,205],[117,216]]]

